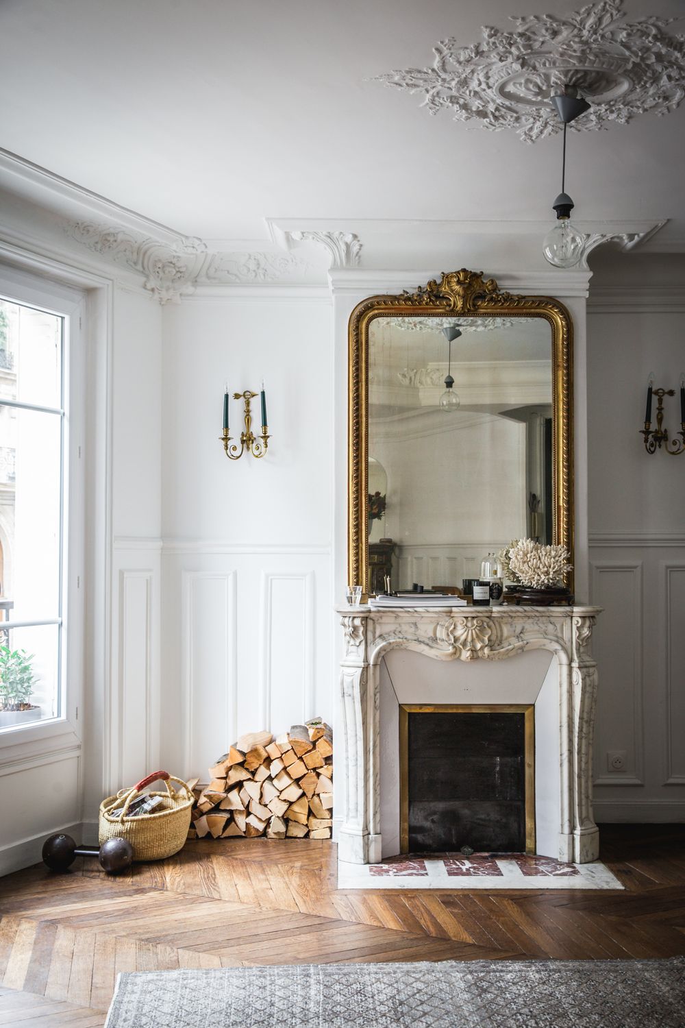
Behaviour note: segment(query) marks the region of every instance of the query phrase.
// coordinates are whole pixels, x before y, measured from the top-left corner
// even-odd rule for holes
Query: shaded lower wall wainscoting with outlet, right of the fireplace
[[[591,536],[598,821],[685,820],[685,538]],[[624,752],[611,770],[609,752]]]

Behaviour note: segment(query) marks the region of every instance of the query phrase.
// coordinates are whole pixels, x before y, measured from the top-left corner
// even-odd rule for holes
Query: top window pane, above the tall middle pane
[[[0,299],[0,397],[62,406],[63,320]]]

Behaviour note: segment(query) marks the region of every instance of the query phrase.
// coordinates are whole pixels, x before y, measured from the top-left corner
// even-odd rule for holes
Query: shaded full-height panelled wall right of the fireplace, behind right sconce
[[[598,255],[587,318],[592,600],[604,608],[595,654],[596,817],[685,818],[685,454],[653,455],[642,436],[647,377],[675,389],[685,368],[682,257]],[[652,427],[655,423],[654,400]],[[612,770],[608,754],[624,754]]]

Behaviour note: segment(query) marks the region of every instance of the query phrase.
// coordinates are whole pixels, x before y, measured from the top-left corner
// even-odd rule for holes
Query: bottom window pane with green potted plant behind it
[[[60,715],[58,625],[2,629],[0,729]]]

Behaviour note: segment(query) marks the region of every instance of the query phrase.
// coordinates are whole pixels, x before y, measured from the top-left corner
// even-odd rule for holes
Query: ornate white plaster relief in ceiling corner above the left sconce
[[[199,238],[183,238],[173,246],[93,221],[69,221],[64,229],[92,253],[144,276],[145,289],[160,303],[178,303],[201,285],[293,281],[298,274],[302,278],[309,267],[295,254],[213,253]]]

